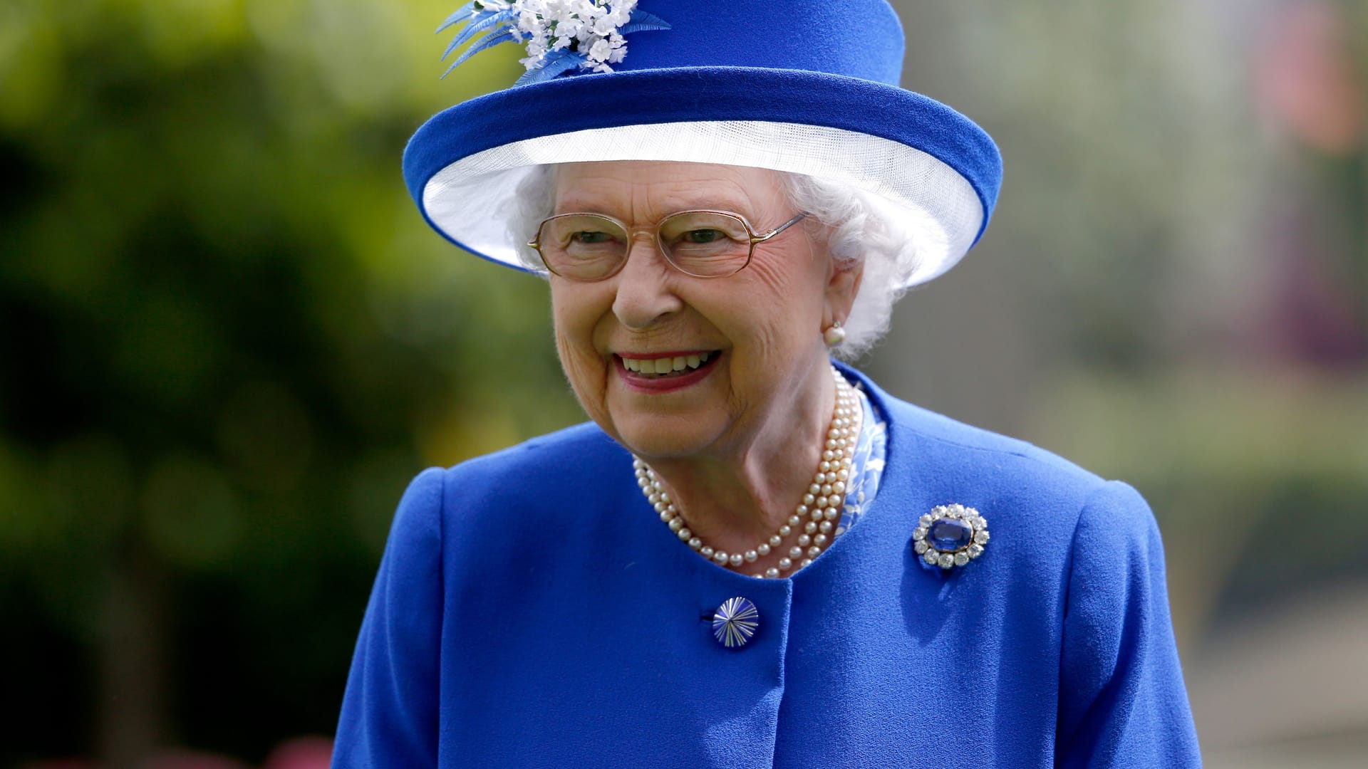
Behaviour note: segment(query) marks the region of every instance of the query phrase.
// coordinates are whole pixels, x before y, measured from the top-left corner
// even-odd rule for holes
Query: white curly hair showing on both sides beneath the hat
[[[517,187],[518,211],[509,230],[520,244],[531,241],[540,222],[553,213],[554,170],[555,166],[539,166]],[[793,207],[829,229],[826,250],[837,267],[865,265],[851,315],[841,324],[845,342],[833,350],[843,360],[855,360],[888,331],[893,304],[917,268],[917,245],[893,235],[892,208],[876,196],[830,179],[776,172]],[[546,275],[535,249],[521,248],[518,256],[528,270]]]

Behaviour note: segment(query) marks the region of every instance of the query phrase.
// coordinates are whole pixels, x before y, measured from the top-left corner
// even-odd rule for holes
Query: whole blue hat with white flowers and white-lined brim
[[[465,56],[523,44],[528,73],[423,125],[404,177],[428,223],[486,259],[525,270],[529,234],[510,230],[518,183],[538,166],[594,160],[858,187],[917,244],[906,286],[953,267],[988,226],[997,146],[899,88],[903,30],[884,0],[477,0],[443,27],[460,22],[453,48],[479,33]]]

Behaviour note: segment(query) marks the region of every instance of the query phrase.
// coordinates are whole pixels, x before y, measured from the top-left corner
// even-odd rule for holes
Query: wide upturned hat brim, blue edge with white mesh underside
[[[949,107],[825,73],[687,67],[565,77],[451,107],[409,141],[404,175],[451,242],[525,270],[518,183],[538,166],[718,163],[841,181],[912,238],[904,285],[949,270],[988,224],[1001,179],[992,138]]]

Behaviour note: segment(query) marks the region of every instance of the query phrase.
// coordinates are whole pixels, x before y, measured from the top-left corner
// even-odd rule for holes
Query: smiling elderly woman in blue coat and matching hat
[[[406,179],[546,274],[591,421],[412,483],[335,766],[1197,765],[1140,495],[832,363],[999,186],[982,130],[897,88],[892,10],[458,22],[528,74],[430,120]]]

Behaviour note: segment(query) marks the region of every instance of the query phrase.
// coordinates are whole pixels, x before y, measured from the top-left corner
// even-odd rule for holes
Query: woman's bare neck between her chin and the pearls
[[[713,547],[754,547],[807,493],[836,402],[829,364],[824,360],[793,395],[791,410],[773,415],[754,439],[732,450],[650,461],[688,527]]]

